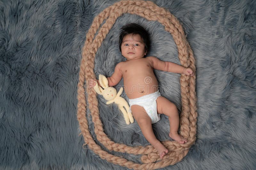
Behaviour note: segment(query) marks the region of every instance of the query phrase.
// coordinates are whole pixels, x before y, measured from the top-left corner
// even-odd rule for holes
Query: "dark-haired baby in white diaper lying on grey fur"
[[[168,99],[160,95],[158,82],[154,69],[172,73],[194,75],[190,68],[178,64],[161,61],[156,57],[145,57],[150,46],[149,35],[140,25],[131,23],[122,27],[119,36],[119,48],[122,55],[127,59],[116,65],[111,77],[108,77],[108,85],[115,86],[124,79],[124,90],[129,98],[132,115],[140,126],[140,129],[163,158],[168,150],[157,140],[152,124],[160,120],[159,114],[168,116],[170,122],[169,136],[184,144],[188,139],[178,134],[180,118],[177,107]],[[96,80],[89,80],[89,87],[95,86]]]

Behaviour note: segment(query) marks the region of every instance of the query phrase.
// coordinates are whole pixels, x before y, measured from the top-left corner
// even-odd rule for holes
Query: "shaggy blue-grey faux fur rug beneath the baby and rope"
[[[83,148],[76,119],[85,36],[92,19],[114,2],[0,1],[0,169],[127,169]],[[197,140],[181,162],[164,169],[255,169],[256,1],[153,2],[180,20],[197,68]],[[110,76],[124,60],[117,41],[120,27],[129,22],[150,33],[149,55],[180,64],[172,36],[161,24],[124,14],[97,52],[97,76]],[[155,73],[161,94],[181,110],[180,75]],[[126,125],[115,105],[98,98],[104,130],[112,140],[148,144],[136,122]],[[160,140],[170,139],[167,117],[161,116],[153,128]],[[113,154],[140,162],[138,156]]]

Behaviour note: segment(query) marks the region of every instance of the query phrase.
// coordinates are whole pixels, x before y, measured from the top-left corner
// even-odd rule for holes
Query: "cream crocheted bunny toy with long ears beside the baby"
[[[133,123],[134,119],[132,117],[132,113],[129,112],[129,105],[126,102],[126,100],[120,96],[123,93],[123,87],[121,87],[118,93],[116,93],[116,89],[113,87],[109,87],[108,79],[101,74],[99,75],[99,82],[103,89],[98,85],[97,82],[96,82],[96,85],[93,87],[93,89],[98,94],[102,95],[106,100],[108,100],[106,104],[110,104],[110,103],[117,104],[117,107],[122,111],[124,115],[124,120],[126,124],[130,124],[130,122]]]

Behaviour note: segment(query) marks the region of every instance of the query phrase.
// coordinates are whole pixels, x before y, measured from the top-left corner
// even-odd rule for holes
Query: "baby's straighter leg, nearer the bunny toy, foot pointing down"
[[[168,153],[168,149],[166,149],[164,145],[157,140],[152,129],[150,117],[144,108],[139,105],[132,105],[131,109],[132,115],[139,124],[142,134],[148,140],[148,142],[156,148],[156,150],[159,152],[160,158],[163,158],[164,155]]]

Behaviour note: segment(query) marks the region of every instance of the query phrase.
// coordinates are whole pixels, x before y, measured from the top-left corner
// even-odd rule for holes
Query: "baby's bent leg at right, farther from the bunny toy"
[[[180,125],[180,117],[179,112],[175,104],[170,102],[163,96],[159,96],[156,99],[157,113],[164,114],[168,116],[170,122],[170,133],[169,136],[179,142],[180,144],[184,144],[188,142],[188,139],[183,138],[178,134],[178,129]]]

